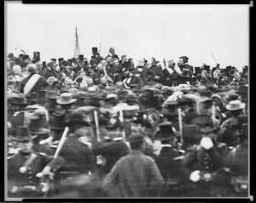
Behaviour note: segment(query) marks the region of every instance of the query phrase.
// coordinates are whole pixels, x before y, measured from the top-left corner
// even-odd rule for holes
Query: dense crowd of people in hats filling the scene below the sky
[[[247,197],[248,66],[8,55],[8,198]]]

